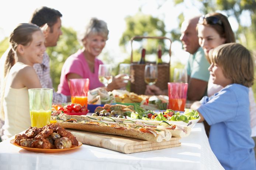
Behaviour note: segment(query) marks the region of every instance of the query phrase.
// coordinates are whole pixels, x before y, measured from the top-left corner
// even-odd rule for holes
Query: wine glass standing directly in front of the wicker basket
[[[146,65],[144,71],[144,80],[148,85],[153,85],[158,79],[158,67],[157,65]]]

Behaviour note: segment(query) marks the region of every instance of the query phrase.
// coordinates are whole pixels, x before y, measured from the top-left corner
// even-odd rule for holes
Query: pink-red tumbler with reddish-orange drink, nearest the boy
[[[168,83],[169,109],[184,111],[187,98],[187,83]]]

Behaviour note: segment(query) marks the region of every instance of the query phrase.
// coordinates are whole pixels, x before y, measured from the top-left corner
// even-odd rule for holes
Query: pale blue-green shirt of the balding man
[[[208,67],[209,62],[205,58],[203,48],[199,47],[195,54],[190,54],[187,62],[187,75],[190,78],[203,80],[208,82],[210,77],[210,72]]]

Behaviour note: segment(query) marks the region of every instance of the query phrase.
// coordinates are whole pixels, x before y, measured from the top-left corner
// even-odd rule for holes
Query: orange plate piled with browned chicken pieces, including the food
[[[48,124],[42,128],[30,127],[24,134],[15,135],[11,144],[32,152],[55,153],[76,149],[82,143],[59,124]]]

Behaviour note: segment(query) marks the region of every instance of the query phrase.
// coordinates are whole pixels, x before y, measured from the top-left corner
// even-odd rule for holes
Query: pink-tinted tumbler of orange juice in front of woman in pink
[[[87,108],[87,94],[89,91],[89,79],[69,79],[71,102]]]

